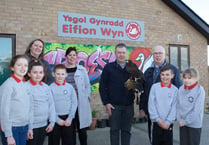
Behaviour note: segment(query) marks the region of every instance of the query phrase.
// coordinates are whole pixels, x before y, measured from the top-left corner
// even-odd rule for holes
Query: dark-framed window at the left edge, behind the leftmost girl
[[[0,33],[0,85],[10,76],[9,62],[15,55],[15,34]]]

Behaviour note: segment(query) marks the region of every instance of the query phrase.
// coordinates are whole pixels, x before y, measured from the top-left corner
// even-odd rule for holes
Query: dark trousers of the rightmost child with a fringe
[[[180,127],[180,145],[199,145],[201,128]]]

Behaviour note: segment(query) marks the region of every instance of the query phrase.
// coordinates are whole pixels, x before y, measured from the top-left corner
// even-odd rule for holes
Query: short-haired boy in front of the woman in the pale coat
[[[56,124],[49,140],[53,145],[74,145],[71,125],[77,109],[76,92],[71,84],[65,82],[67,71],[64,65],[58,64],[54,68],[55,82],[50,85],[57,113]]]

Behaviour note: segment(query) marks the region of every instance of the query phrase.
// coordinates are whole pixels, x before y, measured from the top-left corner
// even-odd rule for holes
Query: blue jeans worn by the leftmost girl
[[[26,145],[28,134],[28,125],[12,127],[12,136],[14,137],[16,145]],[[5,137],[4,132],[1,132],[2,144],[7,145],[7,138]]]

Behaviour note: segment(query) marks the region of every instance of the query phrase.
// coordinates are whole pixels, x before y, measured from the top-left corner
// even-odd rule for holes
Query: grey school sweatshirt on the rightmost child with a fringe
[[[185,126],[201,128],[204,113],[205,91],[196,85],[192,89],[181,86],[177,97],[177,121],[183,120]]]

